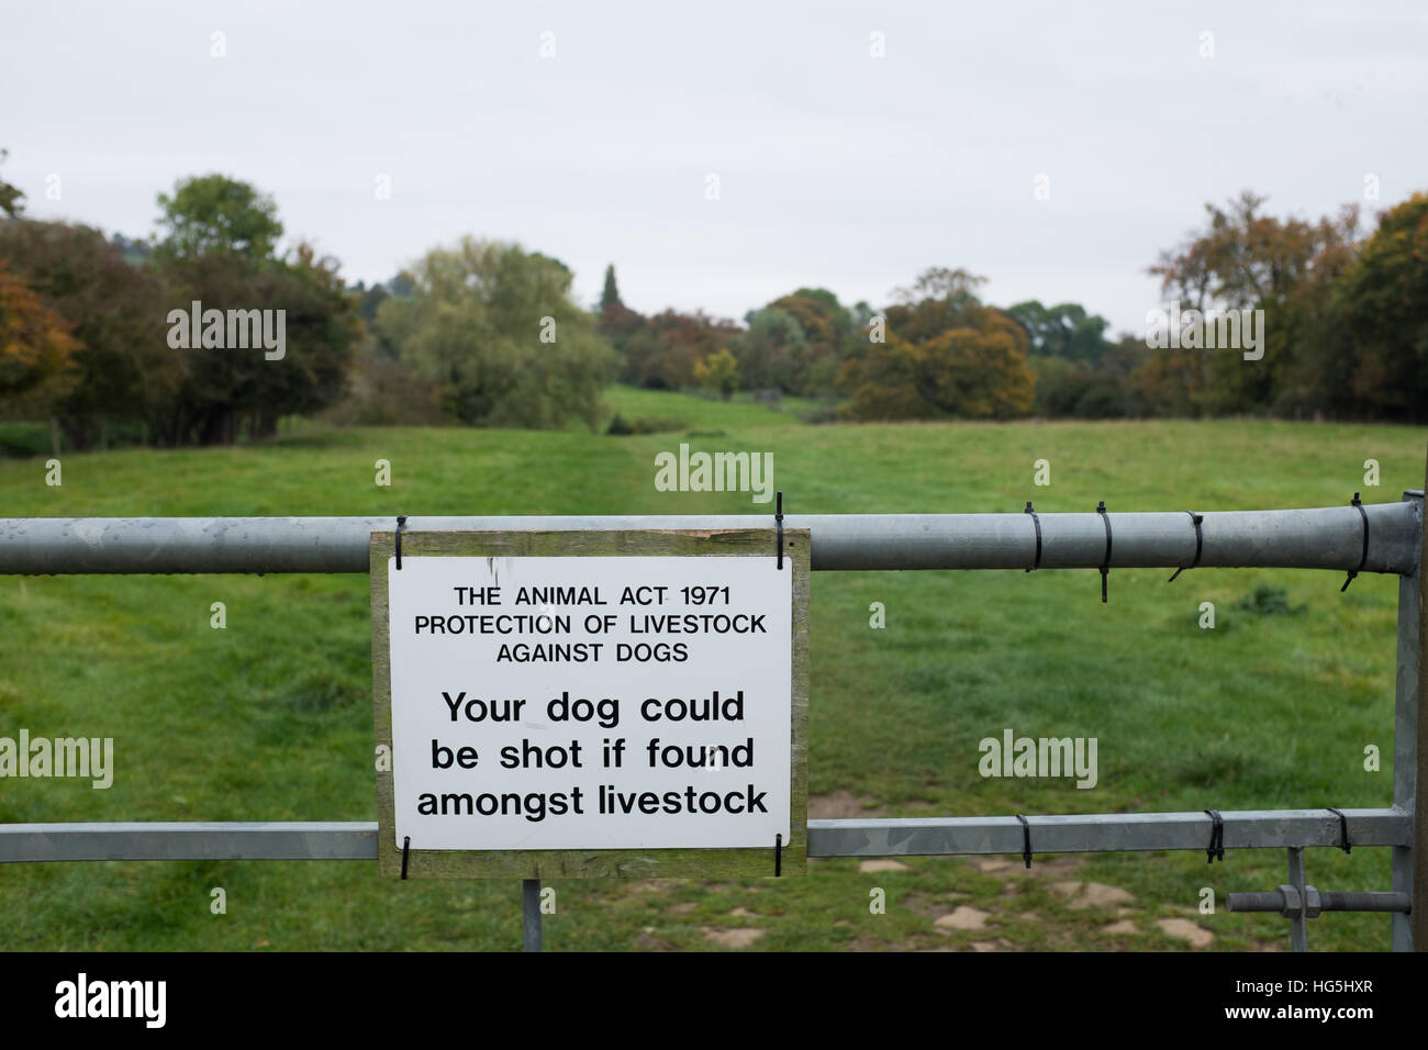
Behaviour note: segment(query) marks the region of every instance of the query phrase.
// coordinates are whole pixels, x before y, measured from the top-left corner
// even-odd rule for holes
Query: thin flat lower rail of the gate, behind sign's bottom
[[[1411,819],[1391,809],[1344,810],[1355,846],[1404,846]],[[1338,847],[1327,810],[1221,810],[1225,849]],[[1041,853],[1204,850],[1204,813],[1027,817]],[[810,820],[810,857],[1020,854],[1015,817]],[[0,863],[69,860],[376,860],[376,823],[0,824]]]

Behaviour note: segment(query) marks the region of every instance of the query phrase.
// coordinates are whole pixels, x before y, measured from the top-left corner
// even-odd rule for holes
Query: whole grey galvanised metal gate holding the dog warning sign
[[[1419,784],[1428,754],[1421,717],[1424,563],[1421,490],[1399,503],[1307,510],[1084,514],[788,514],[813,536],[814,570],[1264,567],[1394,573],[1398,666],[1394,799],[1379,809],[1114,813],[1085,816],[810,820],[810,857],[1107,853],[1282,849],[1287,883],[1230,894],[1231,910],[1279,911],[1295,950],[1321,911],[1392,914],[1394,950],[1428,950],[1428,834]],[[755,516],[410,517],[421,530],[747,529]],[[3,519],[0,574],[366,573],[373,531],[390,517]],[[1421,776],[1422,774],[1422,776]],[[1308,847],[1392,849],[1392,886],[1329,893],[1307,884]],[[377,824],[64,823],[0,824],[0,863],[74,860],[376,860]],[[524,887],[526,946],[540,947],[540,884]]]

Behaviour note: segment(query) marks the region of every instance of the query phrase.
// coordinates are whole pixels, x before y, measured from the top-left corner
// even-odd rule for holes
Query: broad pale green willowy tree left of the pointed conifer
[[[473,426],[595,427],[615,360],[570,297],[573,274],[518,244],[464,237],[410,270],[410,297],[377,323],[430,380],[447,417]]]

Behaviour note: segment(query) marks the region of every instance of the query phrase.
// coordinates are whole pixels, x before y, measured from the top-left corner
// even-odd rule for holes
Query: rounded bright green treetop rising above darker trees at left
[[[160,193],[160,259],[198,259],[233,254],[258,261],[271,259],[283,224],[273,199],[248,183],[221,174],[183,179],[173,194]]]

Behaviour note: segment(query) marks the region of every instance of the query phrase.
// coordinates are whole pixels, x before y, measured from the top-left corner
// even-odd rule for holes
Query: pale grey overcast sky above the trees
[[[1205,201],[1254,189],[1318,217],[1374,174],[1365,207],[1391,206],[1428,190],[1425,117],[1411,0],[106,0],[0,20],[0,177],[31,217],[147,236],[156,193],[221,171],[348,280],[473,233],[561,259],[587,303],[614,263],[641,313],[743,317],[800,286],[881,306],[961,266],[992,303],[1080,301],[1141,333],[1145,267]]]

